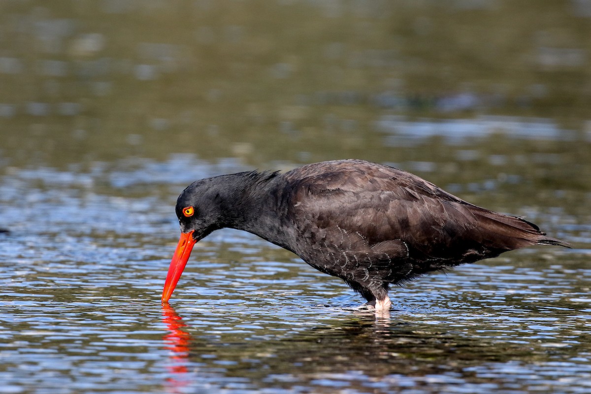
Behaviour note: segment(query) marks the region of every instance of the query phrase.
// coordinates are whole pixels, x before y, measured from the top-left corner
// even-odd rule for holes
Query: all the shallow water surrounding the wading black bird
[[[0,4],[0,393],[591,391],[588,1]],[[202,177],[362,158],[527,217],[530,248],[391,290],[256,236]]]

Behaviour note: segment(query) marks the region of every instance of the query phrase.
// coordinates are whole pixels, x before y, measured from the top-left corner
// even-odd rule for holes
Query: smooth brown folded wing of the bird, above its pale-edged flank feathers
[[[304,222],[317,229],[336,227],[356,234],[372,250],[398,253],[391,259],[409,258],[415,265],[430,262],[424,267],[427,271],[535,243],[560,242],[544,237],[525,220],[466,203],[384,165],[324,162],[296,168],[285,178],[294,186],[292,217],[306,217]],[[302,234],[312,230],[300,229]]]

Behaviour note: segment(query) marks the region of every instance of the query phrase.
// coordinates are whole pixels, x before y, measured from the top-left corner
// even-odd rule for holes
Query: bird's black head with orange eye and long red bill
[[[168,302],[173,294],[195,243],[212,231],[225,227],[228,216],[225,207],[227,190],[218,178],[197,181],[178,196],[176,213],[181,237],[164,282],[163,303]]]

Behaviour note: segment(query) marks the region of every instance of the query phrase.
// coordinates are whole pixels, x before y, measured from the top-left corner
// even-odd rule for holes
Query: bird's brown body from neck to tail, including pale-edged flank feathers
[[[537,243],[567,246],[535,224],[467,203],[385,165],[328,161],[282,177],[300,236],[294,250],[332,275],[373,269],[397,282]]]

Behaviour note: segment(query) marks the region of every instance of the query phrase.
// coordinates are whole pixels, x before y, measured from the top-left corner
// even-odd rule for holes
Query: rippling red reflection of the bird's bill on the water
[[[163,323],[166,325],[168,333],[164,335],[164,349],[170,350],[168,371],[172,376],[167,379],[168,392],[181,392],[181,388],[190,383],[187,376],[189,372],[189,347],[193,338],[185,327],[183,319],[177,314],[173,307],[168,303],[162,305]]]

